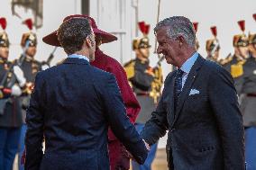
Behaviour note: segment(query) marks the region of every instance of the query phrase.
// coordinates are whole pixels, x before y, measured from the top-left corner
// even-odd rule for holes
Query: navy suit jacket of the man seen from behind
[[[109,169],[108,125],[139,163],[147,157],[126,116],[114,76],[84,59],[67,58],[36,76],[26,122],[25,168],[29,170]]]

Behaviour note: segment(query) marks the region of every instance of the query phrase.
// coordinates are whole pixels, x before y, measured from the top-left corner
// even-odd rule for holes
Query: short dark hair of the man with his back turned
[[[92,29],[86,18],[70,18],[59,26],[58,40],[65,52],[70,55],[82,49],[84,40],[91,38]]]

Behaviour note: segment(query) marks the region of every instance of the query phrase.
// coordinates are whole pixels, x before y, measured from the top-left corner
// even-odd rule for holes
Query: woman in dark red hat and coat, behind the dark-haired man
[[[120,88],[122,94],[123,103],[126,108],[127,116],[130,121],[134,123],[138,113],[140,112],[140,104],[138,103],[133,90],[130,87],[126,74],[123,70],[121,64],[107,56],[101,49],[99,49],[102,43],[109,43],[117,38],[105,31],[100,30],[95,20],[87,15],[71,15],[69,17],[85,17],[90,22],[92,29],[96,35],[96,52],[95,60],[91,61],[90,64],[94,67],[100,68],[106,72],[114,74],[116,78],[117,85]],[[51,39],[50,39],[51,36]],[[52,35],[45,36],[42,40],[53,46],[61,46],[58,41],[58,36],[55,34],[55,41],[52,41]],[[112,170],[129,170],[130,169],[130,157],[126,149],[123,147],[123,144],[116,139],[112,130],[108,130],[108,150],[109,150],[109,159],[110,166]]]

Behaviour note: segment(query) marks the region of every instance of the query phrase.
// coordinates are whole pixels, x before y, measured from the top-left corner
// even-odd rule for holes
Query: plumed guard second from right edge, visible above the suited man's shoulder
[[[238,22],[242,34],[233,36],[233,48],[234,54],[229,55],[227,58],[221,59],[220,64],[231,73],[234,79],[242,76],[243,74],[243,64],[249,57],[249,41],[248,37],[244,34],[245,22]]]

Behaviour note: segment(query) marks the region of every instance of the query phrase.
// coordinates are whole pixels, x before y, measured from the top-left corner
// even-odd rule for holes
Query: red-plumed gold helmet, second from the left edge
[[[23,22],[28,28],[29,32],[23,33],[23,38],[21,40],[21,46],[25,46],[25,43],[27,40],[29,40],[29,45],[31,47],[36,47],[37,46],[37,37],[36,34],[32,32],[32,19],[27,19]]]

